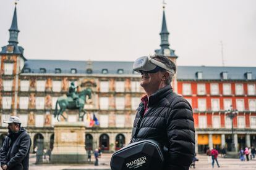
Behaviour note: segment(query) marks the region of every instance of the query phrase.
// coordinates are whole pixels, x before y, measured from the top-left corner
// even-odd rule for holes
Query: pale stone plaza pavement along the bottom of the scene
[[[207,170],[207,169],[221,169],[221,170],[255,170],[256,159],[251,161],[240,161],[239,159],[224,159],[218,158],[220,168],[215,164],[215,168],[211,168],[211,163],[208,163],[207,156],[198,155],[199,161],[195,163],[195,169]],[[109,162],[111,160],[111,154],[103,154],[99,159],[100,166],[93,166],[93,164],[35,164],[35,155],[30,156],[30,168],[31,170],[62,170],[62,169],[110,169]],[[94,161],[94,159],[92,159]],[[194,168],[190,168],[192,170]]]

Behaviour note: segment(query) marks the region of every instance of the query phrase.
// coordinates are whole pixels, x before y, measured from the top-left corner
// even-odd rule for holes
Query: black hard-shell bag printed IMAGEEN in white
[[[154,140],[134,142],[121,148],[112,155],[112,170],[155,170],[162,169],[164,156],[158,143]]]

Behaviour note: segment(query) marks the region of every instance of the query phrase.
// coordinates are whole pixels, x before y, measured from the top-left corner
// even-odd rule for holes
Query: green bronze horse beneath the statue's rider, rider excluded
[[[63,115],[63,112],[66,109],[70,110],[75,110],[79,109],[79,121],[83,121],[83,116],[85,115],[86,111],[83,109],[85,103],[86,103],[86,97],[88,96],[88,99],[92,99],[92,89],[87,88],[81,92],[78,93],[79,99],[79,107],[77,107],[77,104],[75,101],[72,99],[72,97],[67,97],[67,96],[61,96],[58,98],[56,105],[55,105],[55,110],[54,110],[54,118],[56,118],[59,121],[59,115],[61,115],[65,121],[67,121],[67,118]],[[58,110],[58,105],[60,110]],[[82,114],[83,113],[83,114]]]

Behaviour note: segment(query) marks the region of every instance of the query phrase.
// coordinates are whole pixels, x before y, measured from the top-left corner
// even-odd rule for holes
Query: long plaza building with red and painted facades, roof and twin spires
[[[19,29],[16,7],[9,29],[10,39],[0,52],[0,143],[7,134],[4,119],[17,115],[32,138],[43,139],[46,148],[53,148],[54,111],[58,97],[66,95],[70,83],[77,91],[92,89],[87,99],[83,122],[87,126],[87,149],[102,147],[106,152],[129,144],[140,98],[140,75],[132,71],[133,62],[27,60],[18,45]],[[234,143],[239,147],[256,145],[256,67],[190,67],[179,66],[177,55],[169,47],[169,32],[163,11],[161,49],[177,64],[172,83],[174,91],[183,95],[194,109],[196,152],[207,146],[230,148],[231,119],[227,110],[238,110],[234,118]],[[100,125],[92,125],[96,116]],[[78,121],[78,111],[66,110],[69,122]],[[61,118],[61,121],[65,121]]]

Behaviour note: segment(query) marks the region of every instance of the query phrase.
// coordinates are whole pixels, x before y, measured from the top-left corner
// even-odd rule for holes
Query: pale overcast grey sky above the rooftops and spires
[[[178,65],[256,63],[255,0],[166,0]],[[0,0],[0,46],[9,39],[14,1]],[[159,48],[161,0],[20,0],[19,44],[27,59],[124,60]]]

